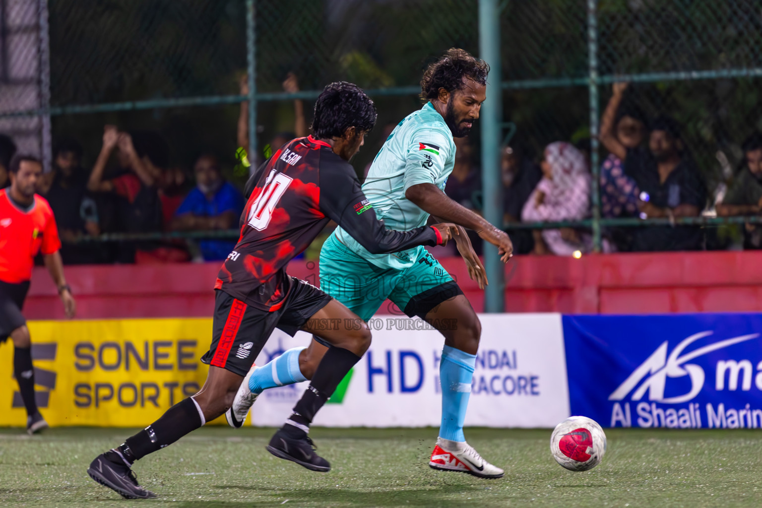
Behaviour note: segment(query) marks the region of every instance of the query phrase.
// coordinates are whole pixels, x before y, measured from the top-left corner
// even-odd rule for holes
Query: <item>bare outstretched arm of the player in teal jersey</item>
[[[447,197],[439,187],[434,184],[415,184],[408,187],[405,197],[415,203],[424,212],[439,217],[440,220],[455,222],[464,228],[473,229],[482,240],[495,245],[504,263],[514,255],[514,245],[511,238],[491,225],[484,217],[467,209]]]

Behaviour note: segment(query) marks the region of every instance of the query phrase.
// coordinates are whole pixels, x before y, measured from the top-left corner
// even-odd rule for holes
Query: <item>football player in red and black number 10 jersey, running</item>
[[[214,286],[212,344],[201,359],[210,365],[207,382],[91,463],[91,478],[123,497],[155,497],[139,487],[133,462],[224,414],[275,327],[292,335],[310,332],[329,349],[267,449],[314,471],[328,471],[328,461],[312,449],[309,425],[370,346],[370,331],[337,300],[289,276],[286,265],[331,220],[376,253],[445,244],[457,234],[453,224],[396,232],[376,219],[348,162],[376,123],[376,107],[357,85],[342,81],[325,87],[314,118],[314,135],[283,145],[246,186],[251,195],[241,216],[241,236]]]

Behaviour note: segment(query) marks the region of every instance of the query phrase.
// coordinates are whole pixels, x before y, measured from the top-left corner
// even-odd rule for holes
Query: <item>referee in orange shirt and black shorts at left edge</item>
[[[34,257],[42,252],[45,267],[58,286],[66,317],[76,305],[63,276],[56,219],[42,196],[34,193],[42,176],[40,160],[16,155],[8,173],[11,187],[0,190],[0,343],[13,340],[13,372],[27,408],[27,433],[47,427],[34,400],[34,367],[27,320],[21,314],[29,290]]]

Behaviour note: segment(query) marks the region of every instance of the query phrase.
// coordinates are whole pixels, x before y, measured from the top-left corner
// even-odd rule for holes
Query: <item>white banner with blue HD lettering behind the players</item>
[[[484,314],[467,426],[555,427],[569,416],[559,314]],[[368,323],[373,343],[351,379],[315,418],[325,427],[438,427],[443,337],[418,318],[379,316]],[[264,365],[290,347],[306,346],[303,332],[275,331],[257,358]],[[250,422],[280,426],[308,382],[264,391]]]

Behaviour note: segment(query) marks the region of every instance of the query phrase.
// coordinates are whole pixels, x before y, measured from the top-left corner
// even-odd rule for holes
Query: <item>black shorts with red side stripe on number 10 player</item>
[[[246,375],[275,328],[293,337],[332,298],[315,286],[286,276],[286,298],[276,310],[247,305],[217,289],[212,345],[201,357],[207,365]]]

